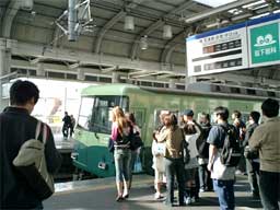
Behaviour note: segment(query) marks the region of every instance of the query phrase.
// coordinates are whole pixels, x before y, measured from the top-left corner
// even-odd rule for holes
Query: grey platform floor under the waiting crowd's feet
[[[253,199],[248,190],[247,176],[237,176],[237,182],[235,184],[235,209],[262,209],[260,200]],[[163,203],[163,200],[154,199],[153,176],[135,175],[129,198],[121,202],[116,202],[116,195],[115,177],[59,183],[56,184],[55,195],[44,202],[44,209],[171,209]],[[175,191],[175,197],[177,197],[177,191]],[[219,203],[215,192],[200,192],[200,200],[198,203],[187,207],[173,207],[172,209],[218,210]]]

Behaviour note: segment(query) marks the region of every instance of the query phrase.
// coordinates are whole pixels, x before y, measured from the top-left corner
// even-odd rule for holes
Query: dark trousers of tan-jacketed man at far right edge
[[[280,173],[260,171],[259,192],[265,210],[279,210]]]

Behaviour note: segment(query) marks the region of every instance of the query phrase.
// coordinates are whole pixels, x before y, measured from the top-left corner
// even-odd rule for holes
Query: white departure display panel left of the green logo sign
[[[188,75],[201,75],[248,67],[245,24],[187,38]]]

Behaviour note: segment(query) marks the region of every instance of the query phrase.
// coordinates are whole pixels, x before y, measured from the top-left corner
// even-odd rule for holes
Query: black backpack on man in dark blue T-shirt
[[[237,132],[234,126],[220,127],[225,132],[224,143],[220,153],[221,163],[225,166],[237,166],[242,156]]]

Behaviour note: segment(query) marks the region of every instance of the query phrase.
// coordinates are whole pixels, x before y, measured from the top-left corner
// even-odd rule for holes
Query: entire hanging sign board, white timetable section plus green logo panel
[[[187,75],[202,75],[280,62],[279,14],[190,36]]]

